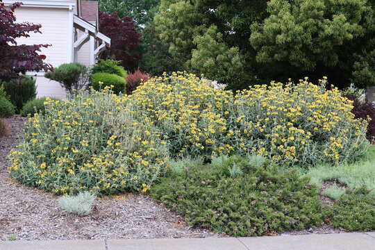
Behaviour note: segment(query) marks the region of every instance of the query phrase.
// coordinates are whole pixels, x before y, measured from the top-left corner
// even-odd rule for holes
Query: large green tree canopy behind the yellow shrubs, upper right
[[[161,0],[159,10],[174,59],[229,88],[303,76],[374,84],[372,0]]]

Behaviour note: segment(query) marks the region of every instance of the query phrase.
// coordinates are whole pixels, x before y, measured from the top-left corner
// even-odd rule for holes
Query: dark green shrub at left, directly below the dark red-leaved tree
[[[19,113],[24,103],[36,97],[35,78],[32,76],[20,76],[18,79],[2,82],[3,89]]]

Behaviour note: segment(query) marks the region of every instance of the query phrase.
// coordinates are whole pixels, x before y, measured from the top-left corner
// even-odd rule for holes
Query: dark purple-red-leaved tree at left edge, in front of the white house
[[[25,45],[17,44],[16,38],[28,38],[28,33],[41,33],[38,24],[22,23],[16,24],[14,15],[15,8],[22,3],[13,3],[8,9],[0,0],[0,79],[9,80],[16,78],[19,73],[27,71],[39,72],[52,69],[51,65],[43,63],[46,58],[38,54],[42,47],[47,44]]]

